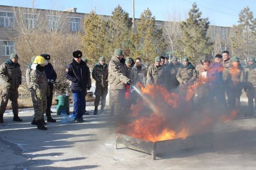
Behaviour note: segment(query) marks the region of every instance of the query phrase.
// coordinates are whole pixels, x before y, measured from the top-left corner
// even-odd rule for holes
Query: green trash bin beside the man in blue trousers
[[[57,101],[57,115],[60,115],[63,109],[65,109],[66,113],[69,114],[69,95],[58,95],[55,100]]]

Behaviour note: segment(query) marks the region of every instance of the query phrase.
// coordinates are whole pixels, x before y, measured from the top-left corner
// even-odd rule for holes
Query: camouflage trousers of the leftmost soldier
[[[0,115],[3,115],[6,110],[9,99],[11,100],[11,107],[13,108],[14,116],[18,116],[18,89],[9,89],[3,88],[1,91],[1,106],[0,106]]]

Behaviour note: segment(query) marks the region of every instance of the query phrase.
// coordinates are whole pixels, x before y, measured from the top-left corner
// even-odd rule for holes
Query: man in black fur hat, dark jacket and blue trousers
[[[73,61],[67,65],[65,70],[66,78],[72,82],[73,109],[76,114],[75,122],[84,122],[82,114],[85,112],[86,90],[90,90],[90,87],[92,87],[90,70],[81,57],[82,52],[80,50],[73,52]]]

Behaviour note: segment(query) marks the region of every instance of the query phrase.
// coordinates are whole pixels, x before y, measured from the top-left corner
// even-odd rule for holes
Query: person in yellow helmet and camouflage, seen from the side
[[[45,65],[46,60],[44,57],[36,56],[30,72],[31,98],[35,111],[35,122],[33,120],[31,124],[38,126],[39,130],[47,130],[43,122],[43,116],[47,108],[47,96],[49,95],[49,87],[44,73]]]

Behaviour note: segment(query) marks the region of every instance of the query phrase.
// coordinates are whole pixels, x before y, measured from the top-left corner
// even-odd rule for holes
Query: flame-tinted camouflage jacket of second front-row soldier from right
[[[226,79],[226,82],[229,87],[243,87],[245,83],[245,70],[243,69],[241,64],[239,64],[237,68],[232,66],[228,69],[228,77]]]

